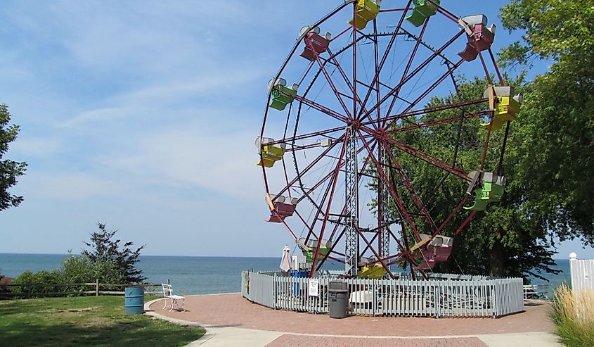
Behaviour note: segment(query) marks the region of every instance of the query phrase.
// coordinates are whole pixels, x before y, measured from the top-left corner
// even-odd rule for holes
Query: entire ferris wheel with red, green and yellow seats
[[[268,85],[257,165],[267,222],[288,230],[310,276],[328,259],[346,277],[393,278],[395,264],[425,276],[501,200],[505,139],[522,100],[497,68],[495,33],[485,15],[458,16],[439,0],[344,1],[296,32]],[[462,65],[489,81],[482,97],[459,93]],[[461,163],[463,133],[476,154]],[[433,194],[416,187],[423,165]],[[458,198],[439,194],[448,184],[464,187]],[[445,213],[431,208],[437,198]]]

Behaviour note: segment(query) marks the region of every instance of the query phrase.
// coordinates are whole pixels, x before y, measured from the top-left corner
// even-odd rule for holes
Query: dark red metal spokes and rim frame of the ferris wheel
[[[387,2],[384,1],[384,3]],[[320,270],[323,263],[330,259],[345,264],[345,276],[347,277],[356,277],[361,272],[362,267],[369,268],[375,266],[382,268],[382,277],[394,278],[394,273],[390,270],[390,266],[399,263],[408,263],[413,277],[415,276],[415,270],[417,270],[420,275],[426,278],[425,270],[431,270],[432,266],[436,263],[447,260],[449,253],[451,253],[451,238],[465,229],[477,212],[481,210],[481,206],[474,208],[474,210],[471,208],[460,225],[457,225],[453,229],[455,231],[451,236],[441,235],[441,232],[453,220],[453,217],[463,210],[463,206],[471,198],[472,194],[477,199],[480,199],[481,194],[485,194],[484,187],[487,187],[487,184],[489,189],[491,189],[489,191],[490,195],[487,198],[483,198],[484,201],[480,202],[484,203],[485,206],[487,202],[498,201],[498,198],[501,198],[501,194],[503,194],[505,178],[501,170],[505,153],[505,143],[510,130],[510,121],[515,119],[515,115],[517,114],[516,108],[519,108],[519,102],[516,100],[518,99],[517,96],[514,99],[513,90],[505,86],[496,59],[491,51],[490,46],[493,42],[494,27],[491,27],[491,29],[487,28],[484,18],[471,18],[477,17],[477,15],[467,17],[456,16],[441,6],[440,1],[437,0],[408,0],[401,2],[406,2],[406,6],[383,8],[378,4],[380,1],[344,1],[343,4],[328,13],[328,15],[325,15],[321,20],[318,20],[313,25],[304,27],[297,39],[297,43],[293,46],[283,65],[281,65],[281,68],[269,83],[266,111],[264,113],[262,129],[257,139],[260,159],[259,165],[262,168],[266,190],[266,203],[271,212],[269,221],[283,224],[297,242],[297,246],[304,251],[304,254],[306,250],[309,252],[311,263],[308,262],[307,266],[309,267],[310,277],[314,276],[314,272]],[[370,6],[370,3],[377,6],[375,9],[377,13],[375,13],[373,19],[365,21],[364,26],[370,25],[370,30],[363,32],[363,29],[358,26],[366,18],[369,18],[364,15],[369,15],[370,11],[373,14],[374,8]],[[345,8],[348,9],[349,6],[353,8],[351,13],[352,19],[350,21],[351,25],[335,37],[329,37],[328,34],[325,37],[321,36],[318,28],[338,13],[345,12]],[[425,9],[430,8],[434,12],[431,14],[430,11],[430,14],[427,15],[427,11],[422,11],[423,8],[421,6],[425,6]],[[407,13],[411,13],[411,11],[412,14],[407,17]],[[415,11],[421,14],[419,15]],[[401,15],[396,16],[398,20],[392,32],[378,32],[377,15],[387,13],[401,13]],[[427,32],[430,18],[437,13],[456,23],[460,27],[460,30],[453,37],[447,39],[439,48],[434,48],[424,42],[423,37]],[[413,15],[417,15],[416,20],[419,20],[419,18],[422,19],[422,24],[418,25],[420,27],[418,34],[414,34],[403,27],[405,21],[411,21],[409,18]],[[467,18],[471,19],[469,20]],[[474,20],[474,22],[469,24],[471,20]],[[489,39],[489,32],[491,32],[491,42],[485,44],[485,35]],[[337,51],[332,51],[330,49],[332,43],[346,34],[351,35],[349,44]],[[482,37],[480,36],[481,34]],[[409,54],[410,57],[406,62],[406,67],[403,69],[399,82],[395,85],[388,85],[382,82],[381,75],[382,71],[387,68],[388,58],[392,54],[391,52],[394,51],[394,44],[396,43],[396,38],[399,36],[411,39],[414,42],[414,46]],[[460,37],[464,36],[467,37],[466,49],[458,53],[460,56],[458,61],[453,61],[444,54],[444,51],[460,39]],[[378,44],[380,37],[389,37],[386,49],[381,55],[380,45]],[[367,83],[359,80],[357,75],[359,65],[357,56],[359,51],[358,44],[362,39],[373,42],[373,79]],[[306,77],[312,79],[309,86],[301,93],[297,92],[297,85],[286,87],[286,82],[281,78],[285,68],[288,67],[292,58],[295,58],[299,48],[304,48],[302,57],[310,60],[310,63],[302,75],[301,80],[297,82],[297,85],[306,81]],[[428,49],[430,53],[424,61],[413,68],[415,56],[419,49]],[[342,67],[343,65],[341,65],[337,58],[349,50],[352,51],[352,65],[349,66],[349,69],[346,69]],[[483,56],[483,52],[488,53],[486,58]],[[483,98],[465,101],[459,98],[458,84],[456,84],[454,72],[460,68],[460,65],[469,61],[469,59],[470,61],[474,60],[472,58],[473,55],[474,58],[479,58],[486,79],[489,80],[489,85]],[[427,65],[436,59],[441,60],[446,65],[446,71],[439,75],[429,87],[418,93],[418,97],[413,101],[403,99],[399,94],[401,89],[408,82],[413,81],[422,70],[427,68]],[[498,77],[500,84],[498,87],[491,80],[488,63],[492,64],[495,75]],[[337,88],[337,80],[329,72],[328,66],[332,66],[334,71],[338,72],[340,75],[338,79],[344,86],[348,87],[349,93],[341,92]],[[314,82],[318,80],[318,77],[323,78],[329,89],[332,90],[332,94],[336,98],[336,105],[340,105],[340,111],[335,111],[328,106],[324,106],[322,103],[316,102],[314,98],[309,97],[309,91],[314,85]],[[431,108],[418,108],[418,104],[426,101],[427,96],[430,96],[447,79],[453,82],[456,95],[458,95],[458,102]],[[382,94],[382,90],[387,90],[387,92]],[[299,106],[294,106],[293,101],[297,101]],[[408,106],[403,111],[394,113],[394,106],[397,101],[404,101]],[[371,106],[368,106],[369,103]],[[474,113],[464,111],[465,106],[477,105],[485,105],[484,111]],[[265,137],[267,120],[269,120],[272,112],[271,108],[276,108],[277,110],[282,108],[284,110],[285,106],[289,107],[289,111],[283,137],[276,140]],[[504,106],[505,110],[503,109]],[[297,125],[299,124],[299,115],[302,114],[303,107],[313,109],[323,115],[328,115],[333,121],[339,122],[340,125],[298,134]],[[295,111],[295,108],[297,108],[297,111]],[[451,109],[460,110],[460,115],[439,118],[430,122],[419,123],[414,121],[422,115]],[[293,134],[288,134],[288,125],[290,119],[292,119],[292,112],[297,114],[294,116],[295,129]],[[454,156],[453,163],[448,163],[446,160],[437,158],[430,153],[425,153],[403,141],[398,141],[392,136],[397,133],[413,132],[415,130],[453,123],[459,123],[461,130],[463,122],[474,118],[485,117],[488,118],[489,124],[486,125],[484,146],[481,148],[481,160],[476,170],[470,173],[456,167],[456,156]],[[396,127],[395,125],[398,122],[401,122],[401,124],[407,122],[407,125]],[[505,127],[505,134],[503,135],[503,142],[498,148],[499,158],[498,163],[496,163],[497,170],[496,172],[485,172],[491,133],[495,130],[494,128],[500,127]],[[342,134],[340,136],[331,136],[337,133]],[[458,151],[459,136],[460,134],[458,134],[456,151]],[[316,138],[321,138],[322,140],[305,145],[297,144],[297,141]],[[299,165],[299,160],[297,160],[295,153],[314,148],[321,148],[321,153],[318,153],[313,160],[306,163],[307,165]],[[337,156],[332,156],[331,151],[337,151]],[[463,196],[461,201],[455,204],[451,213],[440,223],[434,221],[430,211],[427,210],[426,204],[415,192],[415,187],[413,187],[413,183],[407,175],[406,168],[402,167],[394,151],[412,156],[417,160],[422,160],[443,170],[446,176],[458,177],[469,184],[467,194]],[[288,163],[289,160],[285,160],[285,153],[292,153],[292,164],[296,172],[295,177],[292,177],[288,173],[290,163]],[[359,160],[358,158],[362,156],[365,156],[365,158]],[[302,182],[304,175],[307,175],[322,160],[328,158],[335,160],[332,170],[328,170],[318,182],[306,187],[306,184]],[[269,182],[271,174],[267,169],[271,168],[277,162],[282,163],[284,182],[281,184],[283,186],[281,189],[272,189]],[[373,229],[361,227],[359,224],[359,215],[361,213],[359,185],[361,184],[362,177],[370,176],[369,170],[375,172],[373,179],[377,182],[377,198],[375,200],[377,203],[375,211],[377,226],[373,227]],[[397,176],[394,174],[397,174]],[[337,185],[339,184],[340,175],[344,175],[344,203],[342,208],[340,208],[340,213],[335,213],[332,211],[332,200],[338,194]],[[398,183],[396,183],[396,180]],[[439,184],[444,184],[444,181],[445,178],[441,179]],[[400,189],[405,189],[409,195],[410,200],[413,202],[413,207],[416,209],[415,213],[403,203],[403,199],[399,194],[399,187]],[[318,197],[313,194],[316,190],[318,191]],[[292,196],[292,191],[301,191],[302,194],[297,198]],[[313,218],[302,215],[299,209],[297,209],[297,206],[302,201],[307,201],[308,204],[314,206],[315,216]],[[477,206],[476,202],[474,206]],[[482,206],[482,209],[484,209],[484,206]],[[397,218],[392,217],[392,210],[396,210]],[[297,232],[285,220],[287,217],[297,217],[297,220],[302,222],[307,232],[304,238],[297,236]],[[414,217],[419,217],[424,222],[422,228],[418,226],[419,222],[413,220]],[[319,224],[319,229],[316,229],[318,228],[318,223],[321,224]],[[333,226],[330,227],[330,225]],[[392,231],[392,225],[399,226],[401,229],[400,237],[396,236],[396,233]],[[423,234],[420,232],[420,229],[428,230],[428,232]],[[316,230],[318,231],[316,232]],[[334,240],[332,244],[325,244],[327,240],[324,237],[328,233],[330,233],[330,236],[326,237],[331,242]],[[438,239],[441,239],[441,241],[437,241]],[[340,240],[344,241],[344,252],[335,250],[336,246],[340,244]],[[312,243],[311,241],[314,242]],[[391,251],[391,244],[396,246],[396,251]],[[448,247],[449,249],[445,249]],[[441,248],[444,248],[445,251]],[[445,253],[437,253],[441,251]],[[427,260],[427,256],[430,256],[431,252],[435,255],[433,263]],[[372,258],[366,260],[366,263],[362,265],[361,259],[364,258],[363,255],[369,253],[372,253]]]

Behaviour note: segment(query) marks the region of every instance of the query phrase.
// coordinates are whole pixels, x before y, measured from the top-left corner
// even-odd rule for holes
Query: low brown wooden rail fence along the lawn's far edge
[[[145,288],[145,295],[163,295],[161,284],[110,284],[100,283],[97,280],[96,282],[90,283],[3,284],[0,286],[0,298],[41,298],[45,296],[67,295],[124,295],[123,290],[127,286],[143,286]],[[161,290],[158,290],[157,287]]]

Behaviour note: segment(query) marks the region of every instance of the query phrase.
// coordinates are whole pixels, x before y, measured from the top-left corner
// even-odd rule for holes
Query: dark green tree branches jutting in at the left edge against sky
[[[16,207],[22,202],[22,196],[11,195],[8,189],[17,183],[17,177],[25,175],[27,163],[16,162],[4,159],[8,151],[8,145],[15,141],[19,127],[8,125],[11,121],[11,114],[8,107],[0,104],[0,211],[10,207]]]

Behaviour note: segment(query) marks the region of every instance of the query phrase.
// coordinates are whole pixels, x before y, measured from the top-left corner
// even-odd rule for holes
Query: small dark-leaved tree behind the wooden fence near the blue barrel
[[[97,224],[99,231],[93,232],[91,241],[84,243],[91,249],[83,250],[81,255],[89,258],[95,269],[113,265],[115,274],[110,278],[119,279],[118,283],[134,284],[145,281],[146,277],[142,275],[142,270],[136,268],[136,263],[138,263],[138,256],[146,245],[133,251],[131,246],[134,244],[128,241],[124,243],[124,248],[120,249],[121,240],[114,239],[117,230],[108,230],[101,222]]]

